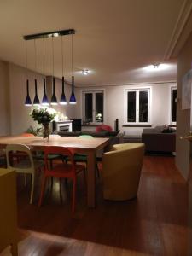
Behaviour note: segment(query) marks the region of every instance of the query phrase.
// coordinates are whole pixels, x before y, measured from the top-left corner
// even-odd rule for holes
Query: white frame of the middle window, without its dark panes
[[[136,122],[128,122],[128,92],[136,91]],[[148,122],[139,122],[139,92],[148,91]],[[133,126],[146,126],[151,125],[151,98],[152,98],[152,89],[151,87],[132,87],[127,88],[124,91],[125,93],[125,114],[124,114],[124,125],[133,125]]]

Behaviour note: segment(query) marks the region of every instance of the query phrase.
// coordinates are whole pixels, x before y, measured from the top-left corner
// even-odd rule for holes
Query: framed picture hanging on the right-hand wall
[[[189,109],[191,104],[192,69],[183,76],[182,109]]]

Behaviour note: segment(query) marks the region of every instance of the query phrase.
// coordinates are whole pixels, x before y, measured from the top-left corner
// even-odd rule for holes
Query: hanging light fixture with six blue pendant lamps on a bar
[[[32,34],[32,35],[26,35],[23,38],[25,40],[34,40],[34,46],[35,46],[35,71],[37,72],[37,52],[36,52],[36,42],[35,39],[39,38],[52,38],[52,61],[53,61],[53,82],[52,82],[52,88],[53,88],[53,95],[51,97],[51,105],[56,105],[57,104],[57,99],[55,96],[55,69],[54,69],[54,41],[53,39],[55,37],[60,37],[61,36],[61,54],[62,54],[62,93],[61,93],[61,105],[67,104],[65,92],[64,92],[64,86],[65,86],[65,79],[64,79],[64,65],[63,65],[63,43],[62,43],[62,36],[66,35],[72,35],[72,94],[70,97],[70,104],[75,104],[76,103],[76,98],[74,95],[74,76],[73,76],[73,34],[75,33],[74,29],[67,29],[67,30],[61,30],[61,31],[55,31],[55,32],[44,32],[44,33],[38,33],[38,34]],[[27,57],[26,57],[26,69],[27,69]],[[44,73],[45,76],[45,73]],[[29,82],[28,79],[26,80],[26,106],[31,106],[30,104],[30,96],[29,96]],[[33,101],[33,105],[37,106],[39,105],[39,99],[38,99],[38,88],[37,88],[37,79],[35,79],[35,98]],[[49,100],[46,95],[46,80],[44,78],[44,96],[42,100],[42,105],[49,105]]]

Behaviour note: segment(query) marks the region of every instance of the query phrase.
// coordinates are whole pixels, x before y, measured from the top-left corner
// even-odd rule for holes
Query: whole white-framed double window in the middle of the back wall
[[[150,89],[125,90],[125,123],[149,124]]]

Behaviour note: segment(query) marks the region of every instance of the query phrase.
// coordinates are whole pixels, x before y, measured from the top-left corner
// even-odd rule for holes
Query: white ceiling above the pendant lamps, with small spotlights
[[[177,79],[168,50],[186,0],[1,0],[0,59],[26,67],[24,35],[75,29],[76,86]],[[179,21],[179,20],[178,20]],[[63,37],[65,77],[71,76],[71,36]],[[43,72],[43,40],[36,40],[37,70]],[[28,67],[35,69],[34,42],[27,41]],[[45,40],[45,73],[52,74],[51,38]],[[61,38],[54,39],[55,76],[61,77]],[[167,63],[162,71],[144,67]],[[91,72],[83,76],[81,70]]]

